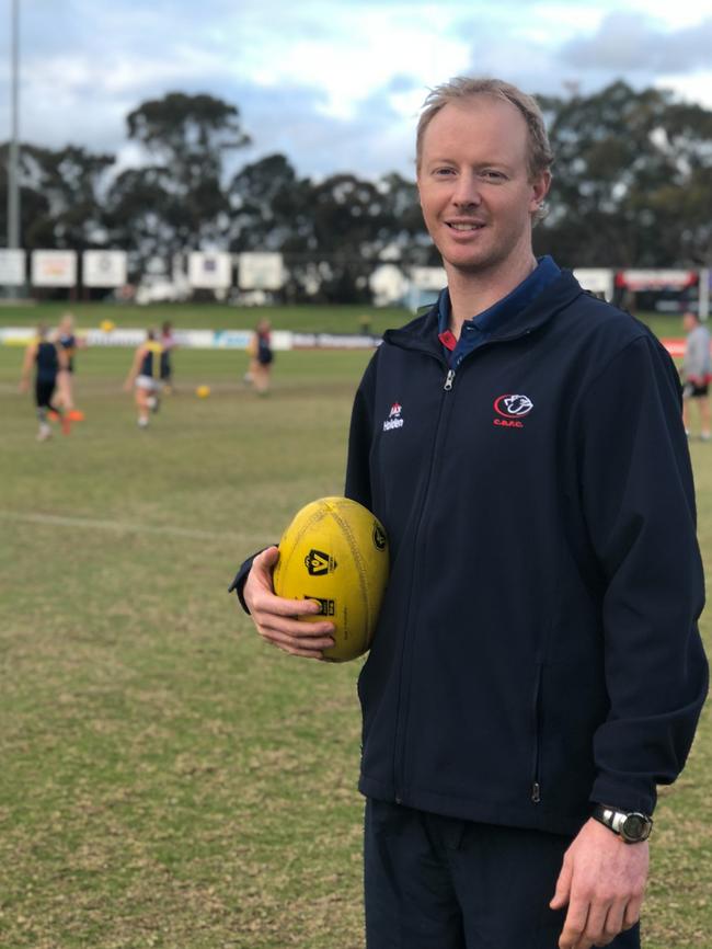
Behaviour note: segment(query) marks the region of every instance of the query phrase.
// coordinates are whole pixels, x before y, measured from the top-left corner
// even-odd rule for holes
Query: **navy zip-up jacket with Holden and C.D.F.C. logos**
[[[567,272],[455,374],[437,332],[389,331],[354,404],[346,494],[392,558],[359,787],[560,833],[652,813],[708,686],[673,362]]]

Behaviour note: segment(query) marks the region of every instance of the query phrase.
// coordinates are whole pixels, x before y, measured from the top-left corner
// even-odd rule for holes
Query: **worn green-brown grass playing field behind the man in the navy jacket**
[[[179,352],[139,432],[129,353],[82,352],[87,422],[44,445],[21,357],[0,347],[1,949],[359,949],[358,663],[264,645],[227,586],[342,492],[367,354],[280,353],[259,399],[244,354]],[[645,949],[712,944],[711,730],[662,793]]]

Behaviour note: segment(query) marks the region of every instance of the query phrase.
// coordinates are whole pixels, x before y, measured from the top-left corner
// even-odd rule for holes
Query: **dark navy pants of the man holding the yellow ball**
[[[554,895],[571,837],[368,799],[367,949],[558,949]],[[640,949],[640,931],[609,949]]]

